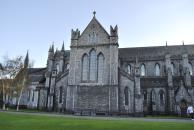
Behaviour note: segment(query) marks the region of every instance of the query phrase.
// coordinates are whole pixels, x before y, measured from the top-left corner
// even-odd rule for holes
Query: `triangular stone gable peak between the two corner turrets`
[[[82,32],[78,44],[103,44],[109,43],[109,34],[94,16],[85,30]]]

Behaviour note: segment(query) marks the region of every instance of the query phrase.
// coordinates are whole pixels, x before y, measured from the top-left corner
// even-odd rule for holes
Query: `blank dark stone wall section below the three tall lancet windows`
[[[78,86],[74,109],[92,109],[95,112],[116,112],[117,86]]]

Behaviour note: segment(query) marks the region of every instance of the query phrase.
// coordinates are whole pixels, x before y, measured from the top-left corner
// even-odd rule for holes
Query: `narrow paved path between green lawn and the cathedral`
[[[37,115],[37,116],[51,116],[51,117],[68,117],[78,119],[98,119],[98,120],[129,120],[129,121],[148,121],[148,122],[188,122],[194,123],[194,120],[188,118],[148,118],[148,117],[107,117],[107,116],[74,116],[63,115],[59,113],[47,112],[16,112],[16,111],[1,111],[3,113],[19,114],[19,115]]]

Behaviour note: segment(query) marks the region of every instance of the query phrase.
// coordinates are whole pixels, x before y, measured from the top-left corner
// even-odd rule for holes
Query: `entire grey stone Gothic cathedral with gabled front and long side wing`
[[[130,43],[129,43],[130,45]],[[119,48],[95,13],[70,50],[48,51],[46,68],[29,68],[21,105],[75,115],[184,114],[194,105],[194,45]]]

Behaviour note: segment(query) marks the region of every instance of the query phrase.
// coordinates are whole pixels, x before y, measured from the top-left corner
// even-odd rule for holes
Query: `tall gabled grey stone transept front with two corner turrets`
[[[118,27],[110,34],[95,17],[80,34],[71,32],[67,110],[118,111]]]

